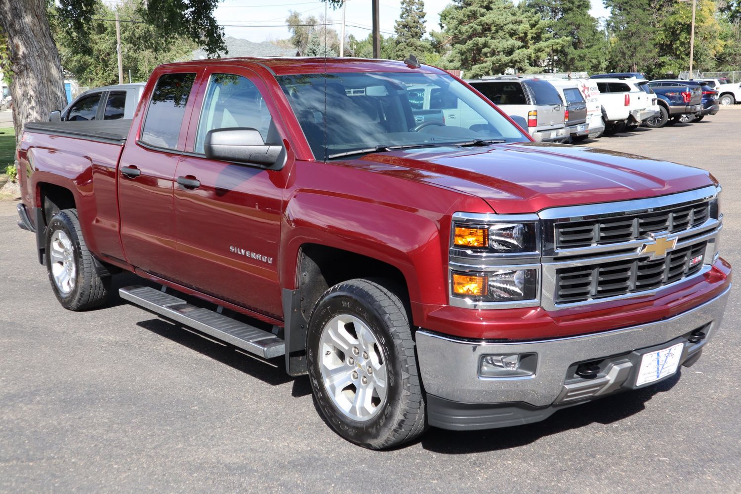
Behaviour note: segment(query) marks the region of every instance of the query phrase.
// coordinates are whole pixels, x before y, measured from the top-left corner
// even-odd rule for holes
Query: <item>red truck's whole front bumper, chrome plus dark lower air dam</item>
[[[671,318],[569,338],[471,341],[419,330],[416,346],[428,393],[428,421],[445,429],[489,429],[540,421],[559,408],[636,387],[642,353],[671,344],[684,344],[680,364],[694,364],[720,327],[729,291],[730,287]],[[691,343],[688,339],[697,330],[706,336]],[[534,375],[479,377],[482,356],[514,353],[537,354]],[[601,362],[596,378],[574,376],[574,366],[583,362]]]

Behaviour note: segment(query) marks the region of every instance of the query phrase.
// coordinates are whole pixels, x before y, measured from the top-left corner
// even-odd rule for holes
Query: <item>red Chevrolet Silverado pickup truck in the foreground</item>
[[[419,87],[457,119],[415,119]],[[19,224],[64,307],[132,271],[153,283],[122,298],[285,358],[365,447],[668,378],[731,287],[709,173],[534,142],[434,67],[167,64],[133,120],[27,124],[18,161]]]

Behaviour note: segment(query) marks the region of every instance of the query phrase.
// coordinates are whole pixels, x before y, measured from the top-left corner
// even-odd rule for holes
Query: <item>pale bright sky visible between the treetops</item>
[[[270,2],[273,3],[270,3]],[[440,30],[439,12],[450,0],[425,0],[427,13],[426,27],[429,30]],[[602,0],[591,0],[590,13],[597,18],[608,16]],[[393,24],[399,18],[399,2],[381,0],[381,33],[393,33]],[[295,10],[305,16],[319,17],[327,10],[327,16],[337,25],[333,26],[339,33],[341,10],[332,10],[320,0],[225,0],[216,8],[216,20],[225,26],[227,36],[248,39],[250,41],[271,41],[290,37],[285,27],[285,18],[289,10]],[[371,1],[348,0],[345,13],[345,24],[348,34],[356,38],[365,38],[371,32]]]

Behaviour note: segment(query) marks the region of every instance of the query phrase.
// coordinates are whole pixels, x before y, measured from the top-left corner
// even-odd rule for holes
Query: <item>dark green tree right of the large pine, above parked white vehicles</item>
[[[589,13],[589,0],[527,0],[525,10],[550,21],[548,32],[557,40],[548,54],[551,71],[602,72],[607,41]]]

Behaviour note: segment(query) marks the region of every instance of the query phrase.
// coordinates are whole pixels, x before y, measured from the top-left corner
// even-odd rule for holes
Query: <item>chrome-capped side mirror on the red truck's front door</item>
[[[249,127],[209,130],[203,148],[209,159],[257,164],[270,170],[280,170],[285,164],[283,146],[265,144],[259,131]]]

